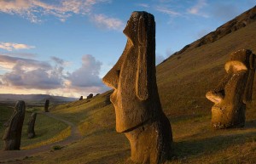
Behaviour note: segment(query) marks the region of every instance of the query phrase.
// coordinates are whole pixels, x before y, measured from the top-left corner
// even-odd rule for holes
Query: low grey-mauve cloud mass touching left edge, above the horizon
[[[1,77],[5,86],[14,88],[60,88],[63,68],[47,62],[0,55],[0,67],[9,69]]]

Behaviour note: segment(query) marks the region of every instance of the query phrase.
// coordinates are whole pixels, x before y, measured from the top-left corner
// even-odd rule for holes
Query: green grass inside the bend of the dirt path
[[[13,107],[9,107],[9,105],[1,105],[0,106],[0,136],[3,137],[4,129],[3,123],[6,122],[9,117],[12,115]],[[26,111],[25,119],[23,122],[22,134],[21,134],[21,149],[31,149],[34,147],[38,147],[44,144],[51,144],[62,139],[66,139],[70,135],[70,127],[68,127],[65,123],[55,121],[53,118],[49,118],[48,116],[44,116],[43,114],[38,113],[36,122],[35,122],[35,133],[36,136],[33,139],[27,139],[27,125],[26,123],[29,121],[30,116],[32,115],[31,111],[38,111],[40,109],[32,110],[28,109]],[[3,141],[0,142],[0,148],[3,147]]]

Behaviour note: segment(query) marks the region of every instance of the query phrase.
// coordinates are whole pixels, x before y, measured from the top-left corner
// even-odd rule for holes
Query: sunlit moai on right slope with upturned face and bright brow
[[[217,88],[207,92],[212,106],[212,127],[243,127],[247,102],[252,100],[255,54],[241,49],[230,54],[225,64],[226,76]]]

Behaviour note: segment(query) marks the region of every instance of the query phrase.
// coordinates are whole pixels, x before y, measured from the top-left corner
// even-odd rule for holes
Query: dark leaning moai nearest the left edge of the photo
[[[25,102],[17,101],[13,115],[5,125],[3,150],[20,150],[21,131],[25,117]]]

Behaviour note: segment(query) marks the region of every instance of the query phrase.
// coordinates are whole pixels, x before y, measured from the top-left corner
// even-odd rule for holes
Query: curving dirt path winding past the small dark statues
[[[43,114],[45,116],[49,116],[51,118],[54,118],[55,120],[61,121],[66,123],[68,126],[71,127],[71,135],[67,137],[67,139],[64,139],[62,141],[53,143],[53,144],[46,144],[44,146],[40,146],[38,148],[34,148],[31,150],[9,150],[9,151],[3,151],[0,150],[0,163],[6,162],[6,161],[15,161],[24,159],[26,156],[34,156],[38,153],[42,153],[45,151],[52,150],[52,146],[54,145],[61,145],[66,146],[68,144],[72,144],[73,142],[79,140],[81,138],[81,135],[79,133],[78,127],[76,127],[72,122],[68,122],[67,120],[63,120],[62,118],[53,115],[52,113],[45,113],[45,112],[38,112],[40,114]]]

